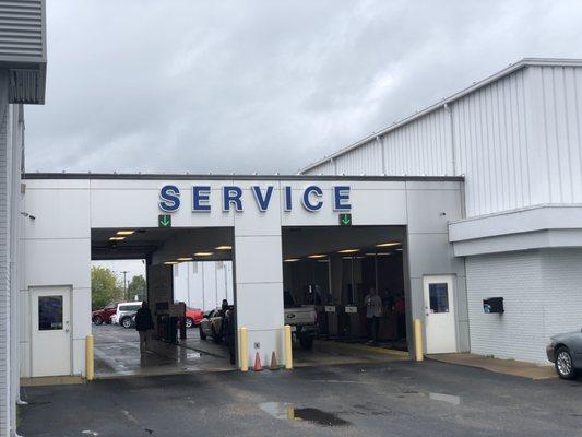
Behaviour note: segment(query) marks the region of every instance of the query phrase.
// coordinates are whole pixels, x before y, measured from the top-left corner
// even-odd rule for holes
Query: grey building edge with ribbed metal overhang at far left
[[[0,1],[0,436],[16,433],[24,105],[44,104],[45,1]]]

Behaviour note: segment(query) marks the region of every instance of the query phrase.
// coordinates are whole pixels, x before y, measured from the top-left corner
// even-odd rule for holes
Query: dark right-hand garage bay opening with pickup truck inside
[[[283,229],[285,323],[298,363],[406,355],[404,237],[399,226]]]

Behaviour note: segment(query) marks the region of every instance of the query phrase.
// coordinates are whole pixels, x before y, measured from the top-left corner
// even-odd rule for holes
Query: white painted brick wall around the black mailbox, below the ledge
[[[550,335],[582,328],[582,249],[466,258],[471,351],[547,364]],[[483,312],[501,296],[506,312]]]

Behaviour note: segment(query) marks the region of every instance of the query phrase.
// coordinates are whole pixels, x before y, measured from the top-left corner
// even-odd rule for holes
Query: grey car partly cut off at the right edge
[[[582,330],[554,335],[546,353],[560,378],[575,378],[577,373],[582,370]]]

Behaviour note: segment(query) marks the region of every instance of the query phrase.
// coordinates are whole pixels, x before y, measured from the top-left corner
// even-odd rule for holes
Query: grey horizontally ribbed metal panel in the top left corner
[[[0,0],[0,60],[45,59],[44,0]]]

